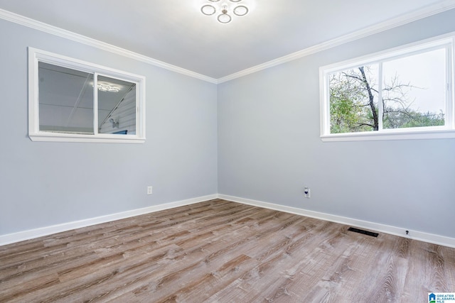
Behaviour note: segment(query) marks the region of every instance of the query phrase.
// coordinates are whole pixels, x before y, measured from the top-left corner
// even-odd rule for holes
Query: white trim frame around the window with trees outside
[[[330,108],[328,99],[328,75],[340,70],[347,70],[363,64],[371,64],[390,57],[407,55],[413,51],[437,48],[450,45],[447,55],[447,100],[446,125],[416,128],[382,129],[380,131],[365,131],[358,133],[330,133]],[[402,45],[372,55],[365,55],[351,60],[326,65],[319,68],[319,96],[320,96],[320,129],[321,140],[331,141],[381,141],[381,140],[411,140],[411,139],[441,139],[455,138],[455,100],[454,100],[454,45],[455,32],[439,35],[427,40]],[[410,52],[410,50],[412,50]]]

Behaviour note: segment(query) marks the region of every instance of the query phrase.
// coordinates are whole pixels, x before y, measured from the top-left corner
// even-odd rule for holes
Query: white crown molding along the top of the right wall
[[[311,46],[310,48],[305,48],[304,50],[299,50],[295,53],[291,53],[289,55],[285,55],[283,57],[279,57],[277,59],[270,60],[268,62],[264,62],[260,65],[250,67],[250,68],[248,68],[246,70],[242,70],[240,72],[235,72],[234,74],[219,78],[217,80],[217,83],[220,84],[223,82],[228,82],[232,79],[250,75],[252,73],[259,72],[260,70],[265,70],[269,67],[274,67],[276,65],[280,65],[280,64],[292,61],[292,60],[296,60],[301,57],[306,57],[308,55],[312,55],[314,53],[319,53],[322,50],[328,50],[329,48],[334,48],[338,45],[349,43],[354,40],[358,40],[360,38],[365,38],[369,35],[374,35],[375,33],[381,33],[383,31],[387,31],[391,28],[396,28],[398,26],[402,26],[402,25],[411,23],[413,21],[417,21],[422,18],[436,15],[437,13],[449,11],[450,9],[455,9],[454,0],[446,0],[439,4],[433,4],[433,5],[427,6],[423,9],[419,9],[417,11],[412,11],[411,13],[406,13],[397,18],[392,18],[385,22],[375,24],[374,26],[369,26],[367,28],[363,28],[360,31],[355,31],[348,35],[342,35],[341,37],[338,37],[338,38],[335,38],[332,40],[328,40],[328,41],[326,41],[324,43],[320,43],[318,45]]]

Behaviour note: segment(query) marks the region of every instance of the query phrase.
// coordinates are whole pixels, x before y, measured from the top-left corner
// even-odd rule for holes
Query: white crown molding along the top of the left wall
[[[11,21],[13,23],[17,23],[21,26],[27,26],[28,28],[33,28],[38,31],[43,31],[45,33],[50,33],[52,35],[59,36],[61,38],[65,38],[68,40],[73,40],[78,43],[89,45],[94,48],[99,48],[101,50],[107,50],[108,52],[114,53],[116,55],[122,55],[124,57],[129,57],[130,59],[145,62],[149,65],[154,65],[156,67],[161,67],[166,70],[178,72],[179,74],[182,74],[182,75],[186,75],[186,76],[193,77],[196,79],[204,80],[206,82],[211,82],[211,83],[217,84],[217,79],[215,79],[215,78],[201,75],[201,74],[198,74],[197,72],[192,72],[191,70],[186,70],[186,69],[178,67],[176,65],[171,65],[166,62],[162,62],[162,61],[153,59],[151,57],[141,55],[139,53],[134,53],[131,50],[119,48],[115,45],[112,45],[109,43],[104,43],[100,40],[88,38],[85,35],[80,35],[77,33],[73,33],[71,31],[66,31],[62,28],[51,26],[47,23],[43,23],[41,21],[36,21],[31,18],[18,15],[17,13],[11,13],[11,11],[5,11],[3,9],[0,9],[0,18],[4,19],[6,21]]]

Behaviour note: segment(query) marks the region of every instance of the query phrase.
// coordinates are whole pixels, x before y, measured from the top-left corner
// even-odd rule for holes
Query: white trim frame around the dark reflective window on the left
[[[39,127],[39,94],[38,94],[38,62],[50,63],[74,70],[90,72],[94,75],[114,77],[137,84],[136,89],[136,121],[137,130],[134,135],[116,135],[107,133],[77,134],[53,133],[40,131]],[[96,102],[95,102],[96,105]],[[95,110],[95,109],[94,109]],[[96,115],[94,120],[96,120]],[[145,77],[129,72],[114,70],[110,67],[73,59],[45,50],[28,48],[28,136],[31,141],[59,142],[92,142],[92,143],[144,143],[145,142]]]

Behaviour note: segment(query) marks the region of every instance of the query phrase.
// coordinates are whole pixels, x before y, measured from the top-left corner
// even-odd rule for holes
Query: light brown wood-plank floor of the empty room
[[[212,200],[0,246],[0,302],[428,302],[455,249]]]

